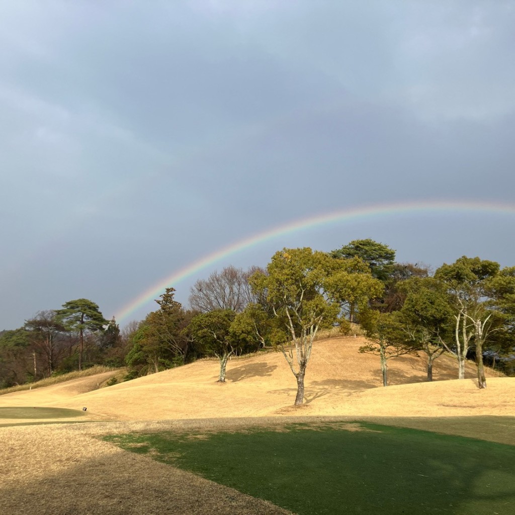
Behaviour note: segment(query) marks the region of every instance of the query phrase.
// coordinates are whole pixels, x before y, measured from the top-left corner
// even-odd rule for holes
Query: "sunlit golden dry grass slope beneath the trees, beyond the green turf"
[[[234,358],[227,383],[216,382],[218,362],[203,359],[180,368],[97,388],[109,373],[33,391],[6,394],[0,406],[87,407],[91,420],[166,420],[281,415],[333,416],[515,416],[515,378],[488,374],[488,388],[474,382],[475,367],[456,381],[456,361],[435,362],[425,382],[423,357],[389,361],[388,388],[381,386],[379,358],[360,354],[363,338],[316,341],[306,373],[305,405],[291,405],[296,382],[280,353]],[[3,422],[7,422],[4,420]],[[13,421],[14,422],[14,421]],[[20,422],[19,420],[16,422]]]

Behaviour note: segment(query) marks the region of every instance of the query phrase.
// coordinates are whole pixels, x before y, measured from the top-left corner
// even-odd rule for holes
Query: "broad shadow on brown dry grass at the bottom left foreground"
[[[44,446],[45,442],[40,444]],[[13,459],[21,458],[13,456]],[[78,462],[74,464],[74,461]],[[286,514],[264,501],[129,452],[72,458],[66,462],[57,459],[57,463],[49,460],[48,470],[39,470],[29,482],[23,477],[2,481],[0,512],[6,515]]]

